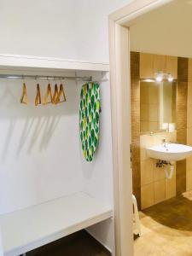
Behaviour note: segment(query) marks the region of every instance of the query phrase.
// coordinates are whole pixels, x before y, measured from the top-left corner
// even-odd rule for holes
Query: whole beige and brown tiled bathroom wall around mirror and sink
[[[186,59],[166,55],[135,53],[132,58],[132,71],[134,71],[131,73],[132,164],[135,166],[133,189],[139,205],[141,196],[142,208],[146,208],[172,198],[176,193],[180,195],[186,187],[187,190],[192,189],[192,157],[187,160],[186,165],[185,162],[177,162],[177,173],[174,172],[174,176],[170,180],[166,179],[163,169],[156,168],[155,160],[148,159],[146,147],[161,143],[162,138],[174,142],[176,141],[176,132],[157,133],[153,136],[142,135],[139,142],[140,89],[138,79],[154,78],[154,73],[158,71],[172,73],[174,79],[178,79],[177,108],[173,113],[177,116],[177,142],[192,145],[192,59],[189,60],[189,63],[187,60],[186,65]],[[154,97],[151,99],[153,100]],[[144,108],[141,111],[144,116],[148,118],[150,115],[153,119],[156,116],[155,110],[153,113],[149,113],[144,106],[145,102],[142,104]],[[151,128],[148,130],[155,130],[152,128],[153,122],[155,120],[151,120]],[[143,119],[142,125],[143,129],[147,130],[148,121]]]

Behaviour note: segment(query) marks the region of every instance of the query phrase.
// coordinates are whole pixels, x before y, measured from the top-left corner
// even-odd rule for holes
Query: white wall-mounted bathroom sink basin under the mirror
[[[176,143],[164,143],[152,148],[147,148],[148,157],[166,160],[166,161],[178,161],[189,157],[192,154],[192,147],[176,144]]]

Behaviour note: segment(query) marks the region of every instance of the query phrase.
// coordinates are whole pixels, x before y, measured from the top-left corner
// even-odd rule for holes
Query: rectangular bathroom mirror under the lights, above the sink
[[[176,82],[140,81],[140,131],[175,129]]]

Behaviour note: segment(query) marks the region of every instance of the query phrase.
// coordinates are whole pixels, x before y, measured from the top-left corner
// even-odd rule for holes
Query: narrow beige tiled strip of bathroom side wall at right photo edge
[[[188,70],[187,144],[192,146],[192,59],[189,59]],[[192,190],[192,156],[187,159],[186,189]]]

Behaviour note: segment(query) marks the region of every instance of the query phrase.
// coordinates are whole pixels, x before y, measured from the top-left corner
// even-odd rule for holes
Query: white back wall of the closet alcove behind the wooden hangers
[[[0,213],[82,190],[79,168],[79,90],[67,82],[67,102],[34,106],[36,81],[0,81]],[[42,96],[47,82],[40,82]]]

